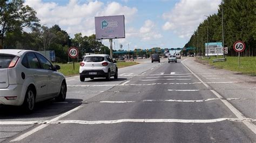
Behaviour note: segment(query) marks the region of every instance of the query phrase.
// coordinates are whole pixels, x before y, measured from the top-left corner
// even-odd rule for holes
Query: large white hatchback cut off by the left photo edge
[[[0,49],[0,104],[23,106],[31,113],[36,102],[66,98],[66,81],[42,54],[21,49]]]

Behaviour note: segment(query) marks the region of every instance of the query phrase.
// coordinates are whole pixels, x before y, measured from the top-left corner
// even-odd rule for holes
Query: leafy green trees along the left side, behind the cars
[[[58,25],[47,27],[39,24],[36,11],[24,5],[22,0],[0,1],[0,16],[0,49],[53,50],[57,62],[68,61],[68,48],[71,46],[79,49],[79,57],[84,53],[110,53],[108,47],[96,40],[95,34],[87,37],[77,33],[70,38],[69,33]]]

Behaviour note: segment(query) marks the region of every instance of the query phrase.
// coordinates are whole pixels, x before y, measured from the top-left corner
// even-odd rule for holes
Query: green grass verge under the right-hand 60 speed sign
[[[201,59],[208,61],[208,63],[217,68],[223,68],[231,71],[237,71],[241,74],[246,74],[250,76],[256,76],[256,57],[255,56],[242,56],[240,57],[240,67],[238,66],[238,57],[227,56],[227,61],[225,62],[212,62],[215,57],[211,59]]]

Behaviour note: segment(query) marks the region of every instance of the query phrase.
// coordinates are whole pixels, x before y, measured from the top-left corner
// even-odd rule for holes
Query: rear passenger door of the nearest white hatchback
[[[33,52],[26,53],[22,65],[27,69],[24,71],[26,78],[29,82],[35,83],[37,94],[36,101],[41,101],[42,98],[47,96],[47,76],[48,73],[41,69],[40,63]]]

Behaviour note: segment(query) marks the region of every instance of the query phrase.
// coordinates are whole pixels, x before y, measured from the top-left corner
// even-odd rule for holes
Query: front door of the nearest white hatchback
[[[41,64],[41,67],[45,72],[47,72],[47,78],[48,78],[48,96],[49,98],[52,96],[55,96],[58,94],[60,90],[61,85],[61,77],[55,70],[55,68],[52,66],[51,62],[48,61],[43,55],[36,53],[37,58],[39,59],[39,62]]]

